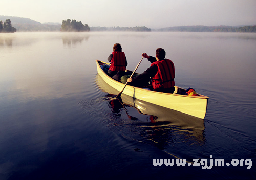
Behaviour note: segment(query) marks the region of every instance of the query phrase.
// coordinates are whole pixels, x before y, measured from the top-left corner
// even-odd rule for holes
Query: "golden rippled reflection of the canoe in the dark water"
[[[115,97],[119,93],[116,89],[107,84],[98,74],[96,76],[96,83],[102,91],[109,93],[106,96]],[[157,140],[158,144],[172,143],[168,142],[172,141],[172,138],[163,138],[163,134],[170,135],[170,133],[172,134],[174,131],[177,131],[179,134],[182,133],[186,139],[191,140],[192,138],[196,140],[197,143],[204,143],[205,138],[203,131],[205,127],[203,119],[151,104],[125,94],[122,94],[120,100],[109,101],[109,106],[116,116],[121,116],[120,112],[125,110],[129,120],[137,120],[136,127],[139,126],[140,134],[144,134],[143,136],[147,138],[150,137],[154,141]],[[134,113],[131,107],[133,110],[136,109],[139,113],[133,115]],[[139,117],[140,115],[143,115],[144,118]],[[144,133],[142,131],[144,131]],[[159,139],[159,133],[161,133],[163,139]]]

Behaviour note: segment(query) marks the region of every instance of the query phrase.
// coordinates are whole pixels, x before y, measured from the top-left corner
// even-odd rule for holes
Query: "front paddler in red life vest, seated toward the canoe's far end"
[[[122,52],[121,44],[114,44],[113,52],[108,57],[108,61],[110,62],[110,68],[108,70],[109,76],[119,81],[121,77],[124,76],[126,66],[128,65],[126,56],[124,52]]]

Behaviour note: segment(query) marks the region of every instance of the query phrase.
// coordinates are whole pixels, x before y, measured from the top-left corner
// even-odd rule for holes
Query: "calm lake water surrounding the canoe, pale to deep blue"
[[[205,119],[102,101],[95,60],[114,43],[130,70],[164,48],[176,85],[209,97]],[[256,33],[0,34],[0,179],[255,179],[255,50]],[[188,166],[193,159],[225,165]]]

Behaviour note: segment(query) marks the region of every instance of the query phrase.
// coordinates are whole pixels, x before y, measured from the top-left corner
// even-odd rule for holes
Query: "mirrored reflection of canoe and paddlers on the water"
[[[96,76],[96,83],[102,91],[109,93],[108,97],[115,97],[119,93],[106,84],[99,75]],[[204,120],[200,118],[147,103],[125,94],[122,94],[120,100],[115,99],[108,103],[113,113],[111,116],[115,122],[111,123],[115,131],[123,131],[123,128],[127,127],[130,132],[139,133],[147,139],[147,143],[153,143],[160,149],[165,149],[168,144],[172,144],[175,141],[174,136],[180,136],[182,141],[185,140],[190,144],[205,142]],[[125,121],[125,119],[133,120],[133,122]]]

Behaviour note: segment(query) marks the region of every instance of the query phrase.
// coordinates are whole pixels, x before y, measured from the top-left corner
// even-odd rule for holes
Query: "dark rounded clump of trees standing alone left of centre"
[[[63,20],[61,25],[62,32],[89,32],[90,28],[87,24],[83,25],[81,21],[76,20]]]

